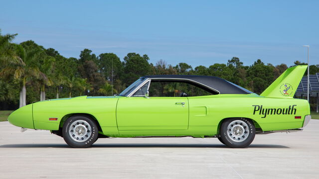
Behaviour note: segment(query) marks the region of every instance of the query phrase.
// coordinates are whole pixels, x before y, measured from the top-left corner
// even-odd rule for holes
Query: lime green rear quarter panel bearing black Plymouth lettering
[[[205,130],[217,134],[218,124],[225,118],[233,117],[253,119],[263,131],[296,129],[303,126],[305,115],[310,114],[309,103],[304,99],[269,98],[257,94],[218,94],[188,99],[189,130],[194,131],[193,133]],[[295,110],[289,110],[289,106],[292,108],[293,105],[296,113]],[[255,111],[254,114],[255,106],[262,106],[264,110]],[[267,110],[266,115],[263,114],[262,111],[265,113],[268,108],[288,110],[290,114],[271,114],[271,110]],[[295,116],[301,118],[295,119]]]

